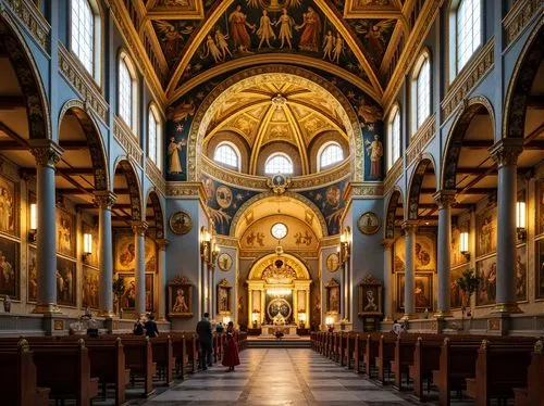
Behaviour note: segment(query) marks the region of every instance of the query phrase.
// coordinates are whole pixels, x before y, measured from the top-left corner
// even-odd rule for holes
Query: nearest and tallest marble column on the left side
[[[57,306],[57,225],[54,165],[64,152],[57,143],[30,139],[30,152],[36,158],[36,207],[38,300],[34,313],[60,313]]]

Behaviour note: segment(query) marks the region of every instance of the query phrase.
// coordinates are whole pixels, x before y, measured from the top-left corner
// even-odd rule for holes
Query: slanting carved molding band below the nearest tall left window
[[[89,75],[79,67],[72,53],[59,41],[59,69],[72,84],[74,89],[85,101],[86,106],[92,109],[103,123],[108,123],[109,105],[102,93]]]

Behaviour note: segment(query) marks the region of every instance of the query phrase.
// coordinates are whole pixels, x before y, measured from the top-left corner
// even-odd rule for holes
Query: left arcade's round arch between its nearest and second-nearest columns
[[[111,181],[108,169],[108,154],[96,120],[92,115],[86,111],[85,104],[81,100],[69,100],[63,104],[59,114],[59,138],[61,124],[67,112],[74,114],[85,134],[90,160],[92,161],[95,189],[110,190]]]

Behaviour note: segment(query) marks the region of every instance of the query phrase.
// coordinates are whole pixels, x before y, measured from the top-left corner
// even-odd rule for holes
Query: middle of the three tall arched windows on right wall
[[[410,107],[413,134],[431,114],[431,62],[426,52],[420,56],[413,71]]]

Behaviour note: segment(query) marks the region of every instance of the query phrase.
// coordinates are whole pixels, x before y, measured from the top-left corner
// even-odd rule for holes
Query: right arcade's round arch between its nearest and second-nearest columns
[[[444,149],[444,158],[442,162],[441,181],[442,190],[454,190],[456,188],[456,173],[459,162],[459,154],[462,148],[465,134],[470,125],[470,122],[482,110],[485,109],[495,128],[495,113],[493,105],[483,96],[470,98],[465,107],[455,117],[454,124],[447,137],[446,148]]]

